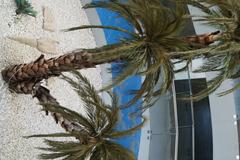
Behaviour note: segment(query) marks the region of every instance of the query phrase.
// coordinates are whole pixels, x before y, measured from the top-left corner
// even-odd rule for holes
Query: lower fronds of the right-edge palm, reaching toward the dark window
[[[217,54],[214,56],[211,55],[210,57],[206,57],[205,63],[194,72],[215,72],[217,74],[217,76],[207,82],[206,89],[196,93],[191,97],[191,99],[198,101],[216,91],[226,79],[231,79],[233,76],[236,76],[235,78],[239,78],[239,75],[237,76],[237,73],[239,72],[239,55],[232,53],[226,53],[221,55]],[[238,88],[239,85],[236,85],[233,88],[228,89],[227,91],[219,93],[218,95],[226,95],[235,91]]]

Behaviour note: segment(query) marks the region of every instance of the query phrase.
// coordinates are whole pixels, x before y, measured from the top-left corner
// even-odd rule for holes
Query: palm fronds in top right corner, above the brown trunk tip
[[[196,16],[196,21],[211,25],[225,34],[221,40],[235,41],[239,37],[240,2],[238,0],[175,0],[193,5],[204,12]]]

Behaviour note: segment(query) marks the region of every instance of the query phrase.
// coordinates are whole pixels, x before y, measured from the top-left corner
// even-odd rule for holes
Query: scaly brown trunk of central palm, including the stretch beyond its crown
[[[219,39],[219,32],[206,33],[183,38],[189,46],[203,48]],[[8,82],[10,88],[18,93],[29,94],[36,83],[51,76],[59,76],[61,72],[72,69],[92,68],[99,64],[109,63],[109,60],[93,61],[92,57],[97,53],[86,50],[74,51],[57,58],[45,59],[41,55],[36,61],[28,64],[20,64],[8,67],[2,71],[3,79]],[[118,59],[112,59],[117,61]],[[124,60],[124,58],[123,58]]]

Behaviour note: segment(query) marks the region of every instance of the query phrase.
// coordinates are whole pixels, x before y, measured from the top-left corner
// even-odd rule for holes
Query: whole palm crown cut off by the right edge
[[[182,52],[191,59],[203,58],[205,63],[195,72],[216,72],[217,76],[208,82],[208,88],[200,91],[192,98],[194,100],[214,92],[226,79],[240,77],[240,1],[239,0],[177,0],[185,2],[202,10],[205,14],[197,16],[196,20],[218,29],[221,33],[215,36],[214,43],[206,48]],[[177,54],[181,54],[178,52]],[[228,94],[240,87],[220,93]]]

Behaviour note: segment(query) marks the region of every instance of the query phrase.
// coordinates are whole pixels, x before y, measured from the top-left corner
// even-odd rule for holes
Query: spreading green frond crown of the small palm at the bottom
[[[105,104],[99,97],[97,91],[79,72],[73,71],[73,80],[66,76],[63,78],[71,84],[78,93],[86,110],[86,116],[72,111],[56,103],[55,99],[46,103],[40,102],[44,111],[55,113],[62,116],[62,119],[68,121],[67,133],[40,134],[30,137],[74,137],[75,141],[53,141],[45,140],[48,148],[39,148],[47,151],[40,155],[41,159],[76,160],[89,158],[89,160],[135,160],[134,154],[116,143],[116,139],[128,136],[140,129],[144,122],[135,127],[118,131],[116,126],[119,123],[119,106],[117,97],[113,94],[112,105]],[[69,123],[70,122],[70,123]],[[65,124],[66,125],[66,124]]]

